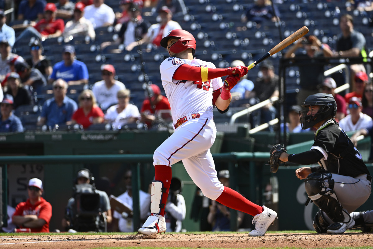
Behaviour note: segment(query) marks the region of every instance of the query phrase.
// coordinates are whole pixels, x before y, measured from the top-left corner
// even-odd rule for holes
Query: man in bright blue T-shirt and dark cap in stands
[[[63,79],[68,85],[80,85],[88,83],[88,69],[84,62],[75,59],[75,48],[65,45],[62,51],[62,61],[53,66],[49,83],[57,79]]]

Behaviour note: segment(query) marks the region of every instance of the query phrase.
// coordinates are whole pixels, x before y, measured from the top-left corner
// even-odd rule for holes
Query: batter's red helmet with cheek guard
[[[170,38],[179,38],[179,40],[171,46],[171,52],[180,53],[185,49],[192,48],[193,55],[195,53],[195,39],[191,33],[183,29],[174,29],[161,40],[161,46],[167,48],[167,42]]]

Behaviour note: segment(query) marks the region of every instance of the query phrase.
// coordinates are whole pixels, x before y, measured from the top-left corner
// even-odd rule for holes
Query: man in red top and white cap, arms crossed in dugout
[[[30,228],[31,232],[49,233],[49,222],[52,217],[52,206],[41,197],[43,183],[38,178],[28,182],[28,196],[25,202],[16,206],[13,223],[20,228]]]

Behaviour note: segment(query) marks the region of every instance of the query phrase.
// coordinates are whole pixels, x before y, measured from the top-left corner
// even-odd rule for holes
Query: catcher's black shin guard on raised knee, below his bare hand
[[[329,183],[326,187],[325,183]],[[333,191],[334,180],[332,174],[311,173],[304,180],[305,191],[308,197],[318,206],[333,222],[350,221],[350,215],[343,211],[338,197]]]

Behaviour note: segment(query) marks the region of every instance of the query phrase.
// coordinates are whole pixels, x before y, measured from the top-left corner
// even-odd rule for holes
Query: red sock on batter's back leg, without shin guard
[[[229,187],[224,187],[223,193],[220,194],[216,201],[228,208],[236,209],[253,216],[263,212],[263,207],[256,205]]]

